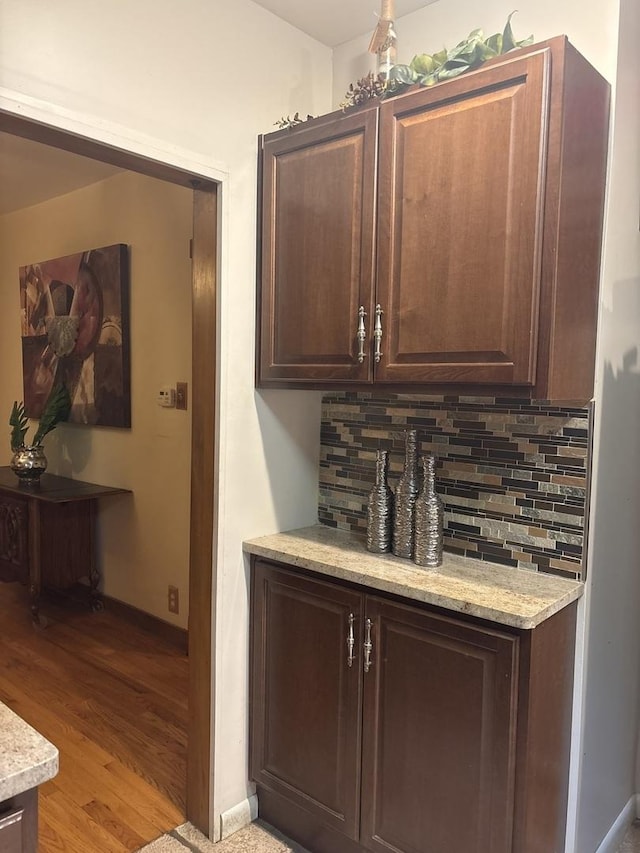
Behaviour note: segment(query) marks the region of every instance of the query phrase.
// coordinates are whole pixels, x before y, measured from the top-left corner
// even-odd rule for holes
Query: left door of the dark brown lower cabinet
[[[255,563],[252,778],[351,838],[359,822],[361,614],[358,593]]]

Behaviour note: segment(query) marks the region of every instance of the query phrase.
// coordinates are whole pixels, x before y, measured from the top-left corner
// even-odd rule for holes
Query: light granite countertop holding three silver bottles
[[[584,584],[445,552],[425,569],[393,554],[371,554],[363,537],[326,525],[261,536],[244,551],[414,601],[513,628],[535,628],[580,598]]]

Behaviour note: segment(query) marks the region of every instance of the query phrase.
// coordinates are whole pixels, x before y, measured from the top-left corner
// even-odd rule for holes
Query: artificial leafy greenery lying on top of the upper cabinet
[[[489,38],[484,37],[482,30],[472,30],[464,41],[459,42],[451,50],[444,48],[437,53],[421,53],[414,56],[409,65],[392,65],[389,78],[368,74],[349,90],[340,104],[342,109],[358,106],[370,98],[389,98],[398,95],[407,87],[419,84],[433,86],[442,80],[450,80],[465,71],[478,68],[487,59],[501,56],[516,47],[524,47],[533,43],[533,36],[516,41],[511,29],[512,12],[501,33],[495,33]]]

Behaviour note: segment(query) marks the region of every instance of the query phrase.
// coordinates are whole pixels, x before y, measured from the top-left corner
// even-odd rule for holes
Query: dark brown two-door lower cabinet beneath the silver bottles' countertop
[[[312,853],[561,853],[575,606],[533,631],[254,558],[251,775]]]

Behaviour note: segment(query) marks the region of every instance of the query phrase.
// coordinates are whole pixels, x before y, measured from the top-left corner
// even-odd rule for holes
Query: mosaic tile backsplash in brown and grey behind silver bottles
[[[320,522],[366,533],[378,448],[437,457],[445,550],[583,579],[591,409],[488,397],[341,392],[322,404]]]

